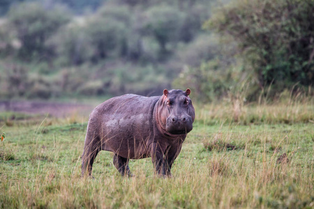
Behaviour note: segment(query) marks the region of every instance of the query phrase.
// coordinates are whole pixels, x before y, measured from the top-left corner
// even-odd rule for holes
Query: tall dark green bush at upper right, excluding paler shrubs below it
[[[236,42],[237,59],[260,89],[313,86],[314,1],[233,1],[204,25]],[[228,44],[227,42],[226,44]],[[274,94],[273,93],[273,94]]]

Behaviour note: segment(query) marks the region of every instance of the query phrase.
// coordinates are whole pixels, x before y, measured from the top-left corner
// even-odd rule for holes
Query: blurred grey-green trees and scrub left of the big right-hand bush
[[[160,94],[182,66],[207,59],[210,4],[104,1],[80,16],[52,2],[13,4],[0,22],[1,96]]]

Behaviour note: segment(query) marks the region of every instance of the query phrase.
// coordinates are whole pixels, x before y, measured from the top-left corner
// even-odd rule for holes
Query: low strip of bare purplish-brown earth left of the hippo
[[[25,114],[41,114],[62,118],[73,114],[88,115],[93,107],[87,104],[35,102],[35,101],[0,101],[0,111],[15,111]]]

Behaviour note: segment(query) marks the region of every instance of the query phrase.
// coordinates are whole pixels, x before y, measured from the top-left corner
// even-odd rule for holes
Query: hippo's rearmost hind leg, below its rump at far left
[[[85,139],[84,151],[82,154],[82,177],[88,170],[89,176],[91,176],[91,169],[94,164],[94,160],[101,150],[99,137],[87,137]]]

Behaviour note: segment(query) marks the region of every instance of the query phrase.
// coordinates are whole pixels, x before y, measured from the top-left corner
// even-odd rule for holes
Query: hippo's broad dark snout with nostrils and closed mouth
[[[192,117],[169,116],[166,121],[166,131],[170,134],[187,134],[193,129]]]

